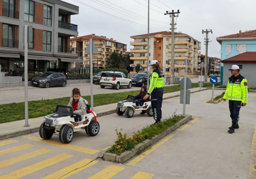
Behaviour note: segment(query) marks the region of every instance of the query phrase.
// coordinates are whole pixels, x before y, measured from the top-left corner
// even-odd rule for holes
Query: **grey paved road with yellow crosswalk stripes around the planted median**
[[[215,90],[215,96],[222,92]],[[203,103],[211,98],[211,93],[211,90],[206,90],[191,94],[186,114],[195,118],[194,123],[185,124],[186,128],[181,126],[171,133],[172,138],[168,135],[166,138],[170,139],[158,148],[153,146],[151,153],[139,155],[145,157],[132,166],[128,162],[136,157],[125,164],[96,157],[98,151],[113,144],[117,138],[116,128],[122,128],[122,133],[129,136],[153,123],[153,118],[146,114],[134,114],[132,118],[117,114],[101,116],[97,119],[100,124],[97,136],[88,136],[85,131],[76,132],[71,145],[61,144],[58,135],[43,140],[38,132],[0,141],[0,178],[247,179],[255,101],[249,100],[249,104],[242,107],[240,128],[228,134],[231,125],[228,102]],[[249,93],[249,96],[252,97],[249,99],[254,99],[256,94]],[[179,104],[179,100],[177,97],[163,101],[163,118],[168,118],[176,109],[182,114],[183,104]]]

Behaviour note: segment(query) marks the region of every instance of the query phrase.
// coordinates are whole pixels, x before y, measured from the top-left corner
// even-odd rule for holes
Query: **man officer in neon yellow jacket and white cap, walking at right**
[[[232,119],[232,126],[229,127],[228,132],[234,133],[235,129],[239,128],[239,111],[241,106],[247,104],[248,87],[247,80],[239,74],[240,69],[238,65],[232,65],[229,69],[231,77],[228,78],[228,85],[226,93],[224,94],[223,101],[228,98],[230,117]]]

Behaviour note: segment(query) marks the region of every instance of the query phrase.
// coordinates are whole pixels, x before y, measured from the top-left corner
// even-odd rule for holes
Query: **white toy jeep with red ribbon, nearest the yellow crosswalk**
[[[39,128],[40,137],[50,139],[52,134],[59,132],[59,139],[63,143],[70,143],[73,133],[84,129],[86,134],[95,136],[99,133],[100,124],[95,121],[96,114],[90,111],[90,105],[86,105],[87,114],[80,120],[73,113],[72,106],[57,105],[53,114],[45,116]],[[78,121],[75,121],[78,120]]]

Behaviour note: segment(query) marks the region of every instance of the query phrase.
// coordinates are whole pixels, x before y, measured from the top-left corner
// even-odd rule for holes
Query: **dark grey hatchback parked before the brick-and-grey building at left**
[[[45,72],[32,79],[32,85],[49,88],[50,86],[67,85],[67,77],[62,73],[57,72]]]

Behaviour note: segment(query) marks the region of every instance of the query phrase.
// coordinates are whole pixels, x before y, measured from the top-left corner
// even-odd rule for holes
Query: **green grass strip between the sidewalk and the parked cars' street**
[[[198,87],[197,83],[192,83],[191,88]],[[138,88],[139,89],[139,88]],[[104,89],[103,89],[104,90]],[[163,93],[172,93],[180,91],[180,85],[166,86],[163,87]],[[118,101],[125,100],[130,95],[139,94],[138,91],[121,92],[121,93],[110,93],[110,94],[95,94],[94,96],[94,107],[117,103]],[[91,103],[91,96],[82,96],[84,99]],[[46,99],[39,101],[28,101],[28,118],[36,118],[52,113],[52,110],[56,108],[57,104],[68,105],[70,97]],[[18,121],[25,119],[25,102],[22,103],[10,103],[0,104],[0,123],[6,123],[11,121]]]

